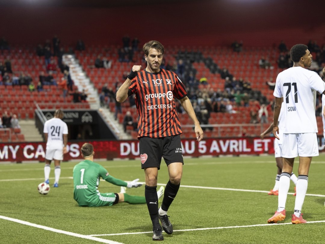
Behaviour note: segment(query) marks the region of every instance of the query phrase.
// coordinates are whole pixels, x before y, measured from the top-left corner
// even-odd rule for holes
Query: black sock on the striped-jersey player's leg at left
[[[146,197],[147,207],[149,210],[150,218],[153,225],[159,225],[158,219],[158,195],[157,186],[145,186],[144,195]]]

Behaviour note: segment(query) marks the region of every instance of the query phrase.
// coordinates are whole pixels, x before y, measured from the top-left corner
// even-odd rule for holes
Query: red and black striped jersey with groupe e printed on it
[[[136,95],[138,138],[152,138],[182,133],[174,97],[187,96],[184,84],[174,72],[160,69],[158,73],[138,72],[131,81],[128,96]]]

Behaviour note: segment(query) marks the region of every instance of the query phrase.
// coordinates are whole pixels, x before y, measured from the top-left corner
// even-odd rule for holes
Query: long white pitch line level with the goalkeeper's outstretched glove
[[[49,178],[50,180],[54,180],[54,177]],[[60,177],[60,179],[73,179],[71,176],[69,177]],[[28,178],[28,179],[4,179],[0,182],[8,182],[8,181],[34,181],[34,180],[44,180],[44,178]],[[100,181],[105,181],[101,179]],[[128,181],[126,181],[128,182]],[[145,182],[139,182],[142,184],[145,184]],[[157,185],[165,186],[166,184],[157,183]],[[261,193],[268,193],[268,191],[260,191],[260,190],[247,190],[247,189],[235,189],[235,188],[222,188],[222,187],[209,187],[209,186],[195,186],[195,185],[180,185],[180,187],[186,187],[186,188],[199,188],[199,189],[209,189],[209,190],[221,190],[221,191],[239,191],[239,192],[261,192]],[[293,195],[293,193],[288,192],[288,195]],[[306,196],[312,196],[312,197],[325,197],[325,195],[320,194],[306,194]]]

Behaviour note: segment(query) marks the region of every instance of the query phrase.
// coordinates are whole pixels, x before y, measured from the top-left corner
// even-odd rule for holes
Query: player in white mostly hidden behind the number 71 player
[[[283,129],[284,129],[284,125],[283,125],[283,110],[284,110],[283,106],[283,102],[282,102],[282,106],[281,106],[281,111],[280,111],[280,115],[279,115],[279,122],[278,122],[278,127],[279,127],[279,134],[278,137],[280,138],[279,140],[275,139],[274,140],[274,156],[275,156],[275,161],[277,163],[277,167],[278,167],[278,172],[277,175],[275,177],[275,184],[273,189],[271,189],[267,194],[268,195],[274,195],[274,196],[278,196],[279,195],[279,180],[280,180],[280,174],[282,172],[282,137],[283,137]],[[273,122],[270,124],[270,126],[260,135],[261,139],[264,139],[264,137],[266,136],[266,134],[270,133],[273,130]],[[290,180],[292,180],[292,182],[294,183],[294,185],[297,184],[297,176],[292,173],[290,176]],[[296,187],[294,187],[294,189],[296,189]],[[294,192],[293,196],[296,195],[296,192]]]

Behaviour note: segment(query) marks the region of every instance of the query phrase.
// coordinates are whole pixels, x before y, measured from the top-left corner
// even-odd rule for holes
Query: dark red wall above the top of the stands
[[[106,2],[115,2],[109,4]],[[325,42],[325,1],[289,0],[3,0],[0,35],[11,44],[44,43],[57,34],[62,44],[121,44],[122,36],[164,45],[288,46],[309,39]],[[165,3],[165,2],[164,2]]]

